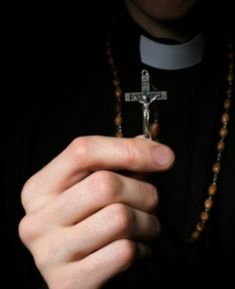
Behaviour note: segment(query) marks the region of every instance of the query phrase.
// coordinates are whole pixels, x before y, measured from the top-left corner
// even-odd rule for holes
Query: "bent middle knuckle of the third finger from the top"
[[[116,234],[131,236],[134,224],[133,211],[123,204],[111,205],[112,227]]]

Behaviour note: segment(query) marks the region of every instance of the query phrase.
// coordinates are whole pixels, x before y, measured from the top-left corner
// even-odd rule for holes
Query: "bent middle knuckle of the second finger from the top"
[[[102,203],[110,204],[118,199],[122,184],[114,173],[108,171],[95,172],[91,182]]]

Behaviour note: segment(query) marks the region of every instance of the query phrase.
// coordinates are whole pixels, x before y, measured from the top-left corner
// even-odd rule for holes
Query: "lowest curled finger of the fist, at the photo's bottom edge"
[[[93,252],[82,261],[64,263],[43,271],[49,288],[99,289],[107,280],[129,268],[138,257],[149,255],[150,248],[130,240],[118,240]]]

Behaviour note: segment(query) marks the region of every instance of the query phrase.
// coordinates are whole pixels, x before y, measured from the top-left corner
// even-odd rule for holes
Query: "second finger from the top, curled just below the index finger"
[[[60,194],[43,212],[49,220],[45,226],[55,223],[70,226],[113,203],[150,212],[158,202],[156,188],[149,183],[128,178],[113,172],[98,171]],[[49,218],[56,216],[56,218]]]

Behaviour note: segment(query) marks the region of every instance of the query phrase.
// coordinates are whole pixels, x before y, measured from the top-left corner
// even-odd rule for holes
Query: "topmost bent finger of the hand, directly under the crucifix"
[[[174,161],[170,148],[140,138],[81,137],[72,142],[24,186],[22,203],[37,206],[100,169],[135,172],[161,171]]]

